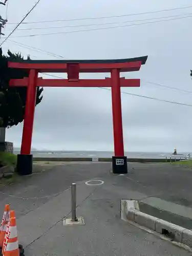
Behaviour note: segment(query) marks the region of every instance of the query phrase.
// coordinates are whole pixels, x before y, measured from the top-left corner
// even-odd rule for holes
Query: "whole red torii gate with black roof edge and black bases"
[[[146,60],[147,56],[113,60],[22,60],[9,62],[9,68],[24,69],[29,72],[29,77],[11,79],[9,83],[11,87],[27,87],[22,146],[20,154],[17,156],[17,172],[22,175],[32,173],[31,142],[36,87],[111,87],[115,153],[115,156],[112,157],[113,173],[127,173],[127,161],[123,146],[120,87],[140,87],[140,79],[120,78],[120,72],[139,71]],[[68,79],[38,78],[39,72],[67,73]],[[105,72],[110,72],[111,78],[79,79],[79,73]]]

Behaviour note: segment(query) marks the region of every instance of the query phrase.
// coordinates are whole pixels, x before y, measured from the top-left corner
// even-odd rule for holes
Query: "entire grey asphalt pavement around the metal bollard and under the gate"
[[[191,255],[120,219],[121,199],[156,196],[191,205],[191,170],[133,163],[128,175],[118,176],[110,168],[110,163],[69,163],[1,188],[1,212],[9,202],[16,210],[26,255]],[[85,184],[92,179],[104,184]],[[62,218],[70,215],[72,182],[77,183],[77,214],[84,217],[84,226],[62,226]]]

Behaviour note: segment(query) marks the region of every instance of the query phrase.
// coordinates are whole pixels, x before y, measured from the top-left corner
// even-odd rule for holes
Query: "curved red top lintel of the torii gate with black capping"
[[[37,70],[38,72],[63,73],[68,72],[68,66],[77,65],[79,73],[139,71],[147,56],[126,59],[96,59],[96,60],[20,60],[8,62],[9,68]]]

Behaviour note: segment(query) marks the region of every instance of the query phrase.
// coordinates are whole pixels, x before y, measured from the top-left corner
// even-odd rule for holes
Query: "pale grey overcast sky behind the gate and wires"
[[[8,23],[18,23],[35,1],[8,0],[8,2]],[[186,6],[192,7],[191,1],[41,0],[25,21],[127,15]],[[5,18],[6,7],[0,6],[0,8]],[[191,17],[180,18],[183,17],[178,16],[181,14]],[[160,17],[177,19],[157,23],[154,21],[159,19],[152,19]],[[133,22],[140,19],[150,20]],[[127,21],[131,22],[125,23]],[[153,23],[125,26],[147,22]],[[95,25],[79,27],[90,24]],[[32,28],[32,30],[18,29],[10,39],[63,56],[65,59],[118,59],[148,55],[146,65],[142,66],[139,72],[121,74],[127,78],[141,78],[141,88],[123,88],[121,91],[192,105],[192,81],[189,75],[192,69],[191,25],[192,8],[186,8],[118,18],[23,24],[19,29]],[[8,35],[11,31],[8,29],[13,29],[14,26],[15,24],[8,24],[4,33]],[[50,29],[50,27],[62,28]],[[106,27],[118,28],[20,37]],[[62,59],[9,40],[3,45],[4,53],[7,49],[12,52],[19,51],[25,56],[30,54],[33,59]],[[63,74],[56,75],[65,77]],[[80,77],[104,78],[105,76],[109,74],[81,74]],[[160,87],[153,82],[191,93]],[[35,110],[32,146],[51,150],[113,151],[111,106],[111,92],[108,90],[46,88],[44,99]],[[192,106],[122,94],[125,151],[172,152],[173,148],[177,147],[180,152],[192,152],[191,114]],[[22,129],[23,123],[7,130],[6,140],[14,142],[14,145],[19,147]]]

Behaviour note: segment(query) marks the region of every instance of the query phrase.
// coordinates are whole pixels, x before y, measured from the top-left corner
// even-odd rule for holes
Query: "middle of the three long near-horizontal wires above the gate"
[[[145,18],[145,19],[135,19],[135,20],[124,20],[121,23],[131,23],[131,22],[142,22],[144,20],[154,20],[154,19],[162,19],[162,18],[170,18],[170,17],[179,17],[179,16],[186,16],[191,15],[192,13],[186,13],[186,14],[177,14],[177,15],[169,15],[169,16],[163,16],[163,17],[155,17],[155,18]],[[76,28],[76,27],[90,27],[90,26],[103,26],[103,25],[113,25],[117,24],[117,22],[111,22],[111,23],[97,23],[97,24],[84,24],[84,25],[69,25],[69,26],[58,26],[58,27],[37,27],[37,28],[22,28],[17,29],[18,30],[41,30],[41,29],[59,29],[59,28]],[[11,29],[5,29],[5,30],[11,30]]]

